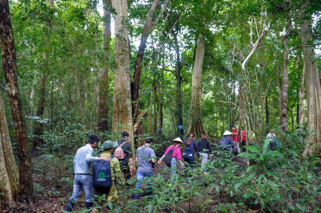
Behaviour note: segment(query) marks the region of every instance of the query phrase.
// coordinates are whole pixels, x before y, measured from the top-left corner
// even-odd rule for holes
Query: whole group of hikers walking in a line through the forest
[[[231,126],[230,131],[225,131],[223,137],[220,140],[220,149],[233,151],[238,150],[239,147],[239,134],[234,126]],[[251,132],[252,136],[254,135]],[[232,137],[231,137],[232,135]],[[100,146],[103,152],[97,157],[93,156],[94,149],[98,146],[99,138],[97,135],[90,135],[88,143],[77,150],[74,157],[74,188],[70,199],[67,202],[65,211],[72,211],[76,204],[80,192],[83,189],[85,193],[85,208],[91,209],[93,202],[95,202],[95,208],[92,212],[98,212],[103,205],[103,199],[101,197],[105,194],[106,199],[114,203],[119,200],[118,192],[116,188],[116,179],[125,181],[126,189],[130,188],[127,182],[131,178],[131,173],[134,170],[134,163],[137,163],[137,173],[135,189],[133,193],[134,199],[139,199],[141,196],[141,188],[144,177],[147,177],[148,188],[147,195],[152,195],[152,182],[148,177],[153,176],[153,167],[156,163],[156,155],[151,145],[152,138],[144,140],[144,145],[137,148],[135,153],[135,162],[132,154],[132,145],[127,141],[129,134],[127,132],[121,133],[121,140],[113,142],[107,140]],[[267,136],[270,141],[274,141],[275,134],[271,130]],[[243,149],[245,151],[246,145],[246,132],[243,129],[241,132],[241,140]],[[170,168],[171,181],[173,181],[174,175],[177,175],[177,160],[184,166],[183,174],[186,173],[187,168],[193,170],[195,164],[195,153],[201,160],[201,169],[204,175],[207,175],[206,162],[209,157],[212,157],[212,150],[210,142],[207,141],[207,135],[203,134],[199,142],[195,141],[195,134],[190,134],[185,142],[181,138],[173,140],[174,144],[170,145],[164,155],[158,160],[158,164],[162,161],[165,162]],[[183,154],[181,154],[181,145],[185,145]],[[270,149],[271,147],[270,142]],[[275,146],[274,146],[275,147]],[[184,162],[182,162],[182,155]],[[99,206],[99,207],[98,207]]]

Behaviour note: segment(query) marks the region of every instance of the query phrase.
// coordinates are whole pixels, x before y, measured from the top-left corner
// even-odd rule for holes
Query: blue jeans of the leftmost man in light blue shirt
[[[85,192],[86,202],[92,202],[91,175],[75,174],[74,190],[73,190],[73,194],[71,195],[70,200],[74,199],[74,201],[77,201],[82,188],[83,188],[83,191]]]

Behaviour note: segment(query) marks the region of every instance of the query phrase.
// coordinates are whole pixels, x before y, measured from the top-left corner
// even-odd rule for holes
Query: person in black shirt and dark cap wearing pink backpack
[[[124,159],[119,160],[119,163],[120,163],[120,168],[126,177],[126,186],[128,186],[127,180],[130,179],[130,173],[133,172],[133,169],[134,169],[132,145],[129,142],[127,142],[128,136],[129,136],[128,132],[122,132],[121,140],[117,141],[117,144],[120,144],[120,145],[123,144],[121,148],[124,151],[125,157]],[[128,165],[128,162],[130,163],[130,165]]]

